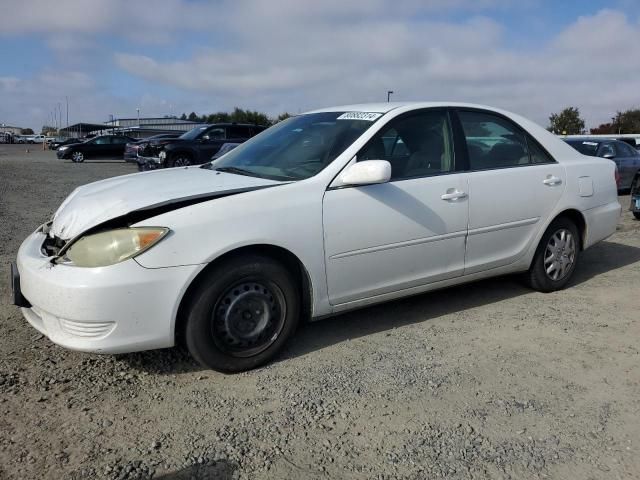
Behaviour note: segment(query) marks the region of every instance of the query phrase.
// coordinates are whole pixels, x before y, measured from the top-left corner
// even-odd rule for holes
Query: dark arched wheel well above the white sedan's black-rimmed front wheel
[[[309,320],[311,318],[311,305],[313,299],[311,278],[309,277],[309,272],[307,272],[307,269],[304,267],[300,259],[289,250],[282,247],[277,247],[275,245],[249,245],[246,247],[240,247],[235,250],[231,250],[224,255],[216,258],[205,268],[203,268],[202,271],[196,276],[196,278],[193,279],[193,281],[187,288],[187,291],[183,295],[182,300],[180,301],[180,306],[178,307],[174,330],[176,343],[181,343],[182,339],[184,338],[184,327],[186,325],[188,314],[187,309],[189,307],[193,294],[197,290],[197,287],[200,285],[200,283],[204,281],[209,272],[218,268],[218,265],[220,265],[222,262],[225,262],[230,258],[246,255],[248,253],[259,254],[273,258],[287,268],[289,273],[293,275],[294,279],[298,281],[301,286],[300,295],[302,297],[302,319]]]

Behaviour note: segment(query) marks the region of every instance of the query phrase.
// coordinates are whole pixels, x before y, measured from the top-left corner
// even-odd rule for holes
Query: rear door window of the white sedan
[[[530,163],[525,133],[517,125],[484,112],[461,111],[458,115],[467,141],[471,170]]]

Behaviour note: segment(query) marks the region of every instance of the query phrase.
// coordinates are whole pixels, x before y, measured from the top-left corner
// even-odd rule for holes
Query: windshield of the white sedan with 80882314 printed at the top
[[[329,165],[381,116],[324,112],[291,117],[203,168],[273,180],[303,180]]]

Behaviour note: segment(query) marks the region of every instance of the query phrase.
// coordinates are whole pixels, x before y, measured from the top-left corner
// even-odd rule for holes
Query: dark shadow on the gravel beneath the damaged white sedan
[[[640,248],[616,242],[601,242],[586,250],[567,288],[598,275],[640,262]],[[471,308],[534,292],[517,275],[495,277],[473,283],[418,294],[303,325],[276,361],[306,355],[331,345],[394,328],[424,323]],[[119,355],[137,370],[172,375],[205,370],[183,348],[152,350]]]

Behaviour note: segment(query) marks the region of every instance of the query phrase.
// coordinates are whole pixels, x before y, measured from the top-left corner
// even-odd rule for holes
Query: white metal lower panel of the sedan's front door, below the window
[[[324,244],[332,304],[462,275],[466,174],[417,178],[324,195]]]

